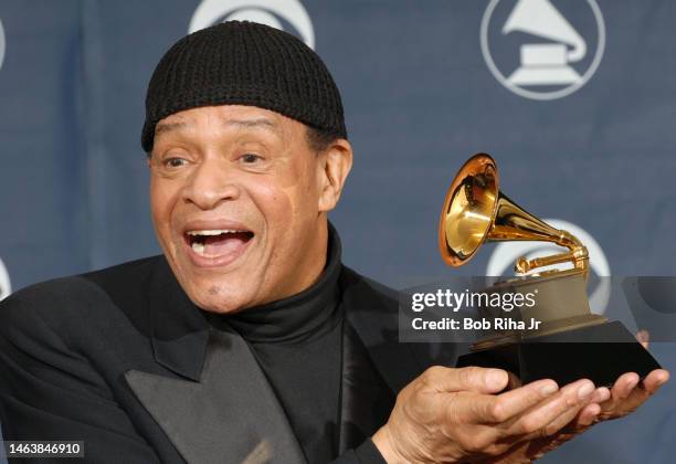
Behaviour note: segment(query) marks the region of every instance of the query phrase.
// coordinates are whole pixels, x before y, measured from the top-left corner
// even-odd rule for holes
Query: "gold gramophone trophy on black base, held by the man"
[[[469,354],[461,356],[457,366],[506,369],[524,383],[551,378],[564,384],[588,378],[598,386],[611,386],[624,372],[643,378],[658,369],[657,361],[621,323],[591,313],[587,247],[567,231],[525,211],[498,187],[498,171],[490,156],[475,155],[461,168],[440,219],[439,246],[444,262],[461,266],[485,242],[546,241],[568,251],[532,260],[519,257],[515,271],[522,275],[560,263],[570,263],[570,268],[540,271],[486,288],[487,293],[535,291],[537,304],[510,317],[535,319],[540,326],[535,330],[493,330],[477,340]]]

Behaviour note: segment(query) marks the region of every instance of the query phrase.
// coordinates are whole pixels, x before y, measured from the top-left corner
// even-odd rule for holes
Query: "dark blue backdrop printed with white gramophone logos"
[[[478,151],[510,198],[583,240],[594,274],[676,272],[673,1],[3,0],[0,297],[158,252],[146,84],[177,39],[229,19],[292,32],[331,70],[356,151],[332,221],[360,272],[403,287],[546,251],[487,245],[443,265],[443,197]],[[673,344],[653,349],[676,371]],[[674,398],[547,462],[670,462]]]

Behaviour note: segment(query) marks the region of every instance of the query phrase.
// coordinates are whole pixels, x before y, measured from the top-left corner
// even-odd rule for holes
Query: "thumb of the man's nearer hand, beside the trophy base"
[[[501,369],[478,367],[455,369],[435,366],[423,373],[422,380],[427,388],[437,392],[497,393],[507,387],[508,376]]]

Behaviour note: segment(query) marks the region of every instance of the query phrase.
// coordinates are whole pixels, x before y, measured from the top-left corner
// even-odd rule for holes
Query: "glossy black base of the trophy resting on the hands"
[[[611,387],[625,372],[636,372],[643,379],[661,368],[619,321],[473,351],[457,359],[456,367],[467,366],[505,369],[516,375],[522,384],[553,379],[564,386],[590,379],[596,387]]]

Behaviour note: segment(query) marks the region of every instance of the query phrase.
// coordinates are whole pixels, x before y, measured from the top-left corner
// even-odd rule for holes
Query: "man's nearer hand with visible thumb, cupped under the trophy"
[[[594,393],[590,380],[559,390],[545,379],[495,394],[507,383],[499,369],[430,368],[399,393],[373,443],[388,463],[492,458],[520,442],[554,435]]]

